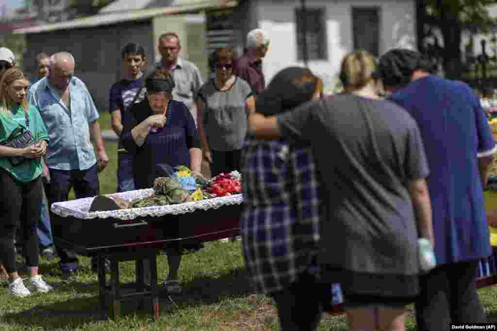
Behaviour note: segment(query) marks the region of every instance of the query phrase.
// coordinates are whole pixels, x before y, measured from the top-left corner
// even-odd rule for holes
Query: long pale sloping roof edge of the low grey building
[[[16,29],[14,30],[14,33],[31,34],[56,30],[90,28],[100,25],[111,25],[128,21],[142,21],[156,16],[178,14],[186,11],[203,10],[209,8],[229,8],[237,5],[236,0],[175,0],[175,2],[177,3],[177,5],[172,5],[169,7],[97,14],[93,16],[73,19],[67,22],[43,24],[29,28]]]

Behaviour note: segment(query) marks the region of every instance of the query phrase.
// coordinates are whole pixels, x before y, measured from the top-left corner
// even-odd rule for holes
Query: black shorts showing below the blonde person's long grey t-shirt
[[[415,297],[380,297],[367,294],[343,293],[343,308],[354,309],[405,309]]]

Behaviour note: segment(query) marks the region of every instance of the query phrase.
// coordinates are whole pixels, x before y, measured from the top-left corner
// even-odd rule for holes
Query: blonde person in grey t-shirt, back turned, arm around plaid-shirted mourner
[[[276,117],[253,114],[249,131],[312,147],[323,276],[341,283],[350,330],[400,331],[419,293],[418,231],[433,243],[423,143],[414,119],[377,96],[372,56],[346,56],[340,77],[352,93]]]

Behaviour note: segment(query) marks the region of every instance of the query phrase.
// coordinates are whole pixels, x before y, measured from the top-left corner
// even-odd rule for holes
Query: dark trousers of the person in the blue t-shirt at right
[[[449,330],[450,324],[485,323],[476,292],[478,261],[440,265],[420,277],[415,303],[418,331]]]

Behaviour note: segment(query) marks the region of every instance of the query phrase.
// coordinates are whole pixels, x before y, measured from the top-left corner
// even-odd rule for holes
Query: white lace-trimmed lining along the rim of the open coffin
[[[136,190],[123,193],[115,193],[106,195],[107,197],[119,197],[126,201],[135,199],[143,199],[154,193],[153,189]],[[211,208],[219,208],[229,204],[241,204],[243,198],[241,194],[225,196],[213,199],[205,199],[200,201],[184,202],[178,204],[169,204],[165,206],[153,206],[142,208],[118,209],[109,211],[88,212],[93,198],[76,199],[64,202],[52,203],[52,211],[63,217],[75,217],[79,219],[91,218],[116,218],[122,220],[134,219],[144,216],[164,216],[168,214],[178,215],[187,212],[193,212],[197,209],[207,210]]]

